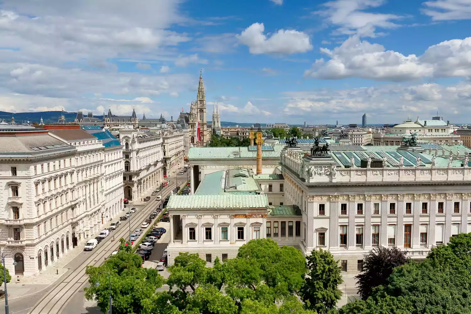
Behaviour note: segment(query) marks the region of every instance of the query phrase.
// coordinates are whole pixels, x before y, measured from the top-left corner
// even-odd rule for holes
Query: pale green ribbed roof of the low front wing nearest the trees
[[[172,195],[167,204],[168,209],[193,208],[266,208],[267,195]]]

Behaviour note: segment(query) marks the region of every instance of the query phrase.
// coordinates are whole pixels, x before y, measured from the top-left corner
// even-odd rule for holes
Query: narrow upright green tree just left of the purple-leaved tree
[[[307,258],[308,272],[300,297],[307,308],[326,314],[340,300],[342,292],[338,285],[343,282],[341,270],[332,254],[325,250],[312,250]]]

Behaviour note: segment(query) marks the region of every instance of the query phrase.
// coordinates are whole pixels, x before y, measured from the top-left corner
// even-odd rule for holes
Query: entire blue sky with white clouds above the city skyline
[[[0,0],[0,110],[471,122],[471,0]]]

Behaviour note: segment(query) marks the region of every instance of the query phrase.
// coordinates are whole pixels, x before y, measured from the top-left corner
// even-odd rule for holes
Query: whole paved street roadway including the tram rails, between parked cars
[[[175,182],[171,182],[162,191],[162,196],[166,197],[176,186]],[[138,207],[130,205],[130,207]],[[148,201],[131,217],[131,229],[134,230],[140,226],[142,222],[149,217],[149,214],[156,207],[154,197]],[[119,219],[119,218],[118,218]],[[127,222],[127,221],[126,221]],[[129,225],[122,224],[116,231],[112,233],[116,239],[129,236]],[[108,236],[102,241],[97,249],[90,252],[83,252],[65,268],[69,269],[67,273],[61,276],[51,287],[25,298],[18,298],[8,302],[10,312],[14,314],[59,314],[73,295],[82,290],[82,286],[88,281],[85,274],[86,266],[98,266],[103,263],[106,257],[119,246],[118,241],[111,242],[112,236]],[[80,248],[79,248],[80,250]],[[163,252],[163,249],[162,249]],[[82,306],[80,306],[81,308]],[[73,311],[70,313],[78,313]],[[84,312],[91,313],[91,312]],[[99,313],[99,312],[98,312]]]

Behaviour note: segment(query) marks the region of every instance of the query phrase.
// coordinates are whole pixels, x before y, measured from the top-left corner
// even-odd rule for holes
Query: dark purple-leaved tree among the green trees
[[[394,267],[404,265],[407,261],[406,251],[402,252],[396,247],[390,249],[380,246],[369,251],[363,258],[363,273],[355,276],[358,294],[364,300],[368,298],[374,287],[387,283]]]

